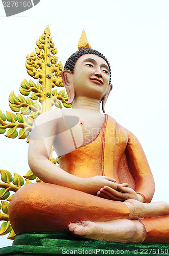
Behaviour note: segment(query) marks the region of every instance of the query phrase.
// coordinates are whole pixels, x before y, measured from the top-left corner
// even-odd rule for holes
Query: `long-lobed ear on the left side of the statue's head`
[[[68,104],[71,104],[74,100],[75,92],[73,86],[73,74],[70,70],[63,70],[61,72],[64,86],[68,94]]]

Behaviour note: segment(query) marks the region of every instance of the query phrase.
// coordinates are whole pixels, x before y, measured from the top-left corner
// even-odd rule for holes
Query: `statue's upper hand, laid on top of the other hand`
[[[100,191],[101,188],[109,187],[113,190],[118,190],[118,185],[115,179],[106,177],[106,176],[94,176],[88,179],[85,179],[86,184],[86,193],[97,195],[98,191]],[[120,184],[122,187],[127,187],[127,183]],[[109,199],[109,198],[108,198]]]

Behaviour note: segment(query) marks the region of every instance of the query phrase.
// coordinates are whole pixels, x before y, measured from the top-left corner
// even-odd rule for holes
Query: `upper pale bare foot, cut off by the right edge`
[[[142,203],[134,199],[128,199],[124,201],[124,203],[130,210],[130,220],[158,217],[169,214],[169,204],[163,201],[154,203]]]

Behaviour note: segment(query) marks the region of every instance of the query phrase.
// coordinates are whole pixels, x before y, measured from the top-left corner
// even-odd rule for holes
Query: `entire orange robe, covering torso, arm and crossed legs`
[[[154,179],[139,141],[107,115],[97,138],[62,156],[60,166],[82,178],[104,175],[118,183],[128,182],[147,203],[154,194]],[[65,231],[70,222],[127,219],[128,215],[129,209],[123,202],[48,183],[22,187],[9,205],[10,222],[16,234]],[[164,227],[167,220],[169,215],[140,219],[146,229],[145,242],[168,243],[169,231]]]

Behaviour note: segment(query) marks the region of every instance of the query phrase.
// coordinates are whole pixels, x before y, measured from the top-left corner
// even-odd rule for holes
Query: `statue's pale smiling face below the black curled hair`
[[[73,72],[76,96],[101,100],[106,93],[109,79],[109,68],[103,58],[95,54],[84,54],[77,59]]]

